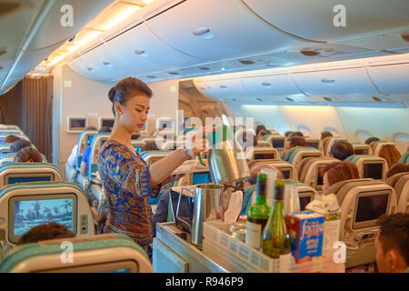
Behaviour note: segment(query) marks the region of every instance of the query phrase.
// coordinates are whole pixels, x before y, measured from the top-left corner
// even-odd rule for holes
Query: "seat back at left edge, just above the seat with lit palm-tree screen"
[[[60,170],[46,163],[10,163],[0,166],[0,188],[15,183],[63,182]]]

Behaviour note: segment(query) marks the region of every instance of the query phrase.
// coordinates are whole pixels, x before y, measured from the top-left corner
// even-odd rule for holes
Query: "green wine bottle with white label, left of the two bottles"
[[[261,248],[263,229],[270,216],[270,206],[267,205],[267,176],[259,174],[257,177],[257,192],[255,204],[247,212],[247,229],[245,243],[257,249]]]

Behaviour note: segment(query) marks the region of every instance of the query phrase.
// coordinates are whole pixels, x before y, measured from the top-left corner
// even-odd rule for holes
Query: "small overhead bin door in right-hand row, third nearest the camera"
[[[255,96],[304,96],[288,74],[244,77],[242,84]]]

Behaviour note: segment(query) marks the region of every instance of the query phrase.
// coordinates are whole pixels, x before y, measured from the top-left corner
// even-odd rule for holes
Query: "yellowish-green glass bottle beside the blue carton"
[[[291,239],[285,224],[284,180],[275,181],[273,210],[264,227],[262,252],[273,258],[291,254]]]

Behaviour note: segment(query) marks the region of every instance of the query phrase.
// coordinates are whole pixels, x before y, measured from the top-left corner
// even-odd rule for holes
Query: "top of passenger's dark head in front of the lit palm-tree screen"
[[[17,245],[36,243],[42,240],[70,238],[75,237],[74,233],[66,226],[59,225],[55,222],[50,222],[46,225],[35,226],[30,229],[24,236],[20,237]]]

